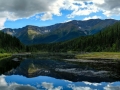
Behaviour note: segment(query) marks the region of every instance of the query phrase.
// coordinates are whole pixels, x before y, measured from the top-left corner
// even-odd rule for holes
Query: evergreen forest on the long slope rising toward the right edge
[[[99,52],[120,51],[120,22],[104,28],[101,32],[83,36],[73,40],[60,43],[39,44],[29,46],[28,51],[50,51],[50,52]]]

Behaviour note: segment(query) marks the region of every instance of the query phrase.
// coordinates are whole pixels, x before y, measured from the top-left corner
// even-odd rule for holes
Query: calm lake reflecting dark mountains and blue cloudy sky
[[[0,90],[120,90],[120,62],[68,54],[0,60]]]

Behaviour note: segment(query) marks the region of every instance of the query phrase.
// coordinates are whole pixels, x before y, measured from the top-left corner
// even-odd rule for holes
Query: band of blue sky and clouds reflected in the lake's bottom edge
[[[0,76],[0,90],[120,90],[120,82],[71,82],[43,76],[35,77],[36,79],[16,76],[19,80],[23,82],[26,81],[26,83],[23,84],[23,82],[19,83],[14,77],[4,75]],[[6,78],[9,79],[9,81]],[[30,82],[34,83],[34,85]]]

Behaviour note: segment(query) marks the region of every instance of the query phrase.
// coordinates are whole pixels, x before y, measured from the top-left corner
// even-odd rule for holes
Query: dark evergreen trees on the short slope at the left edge
[[[0,53],[25,51],[25,46],[11,35],[0,31]]]

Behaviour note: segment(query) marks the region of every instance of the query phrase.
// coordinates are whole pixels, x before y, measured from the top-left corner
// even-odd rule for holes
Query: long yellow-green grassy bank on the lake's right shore
[[[120,59],[120,52],[91,52],[77,54],[77,59]]]

